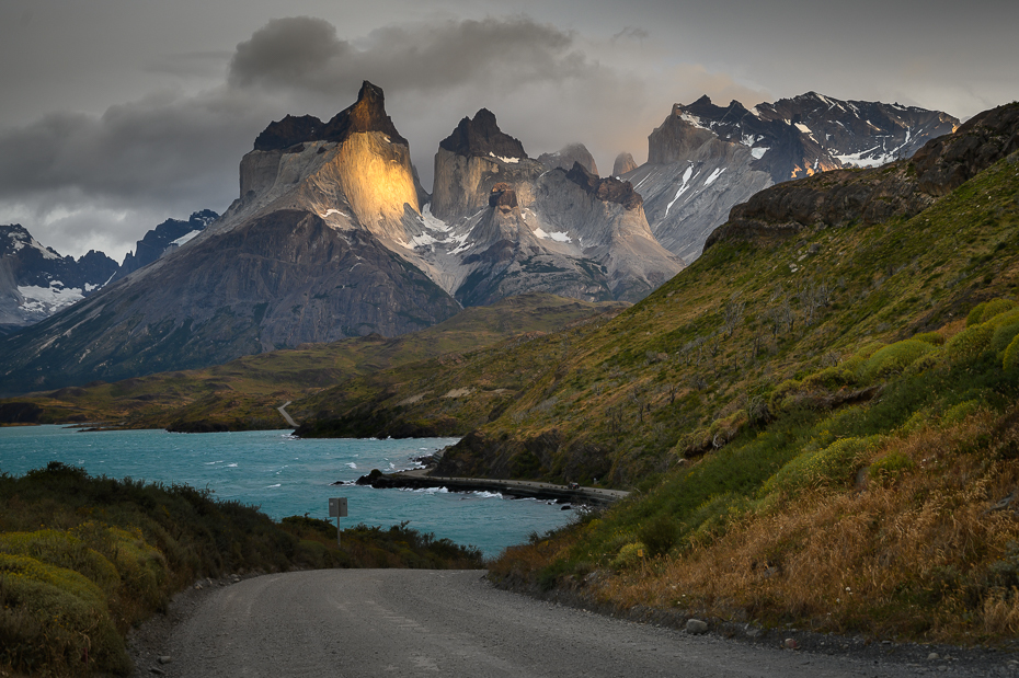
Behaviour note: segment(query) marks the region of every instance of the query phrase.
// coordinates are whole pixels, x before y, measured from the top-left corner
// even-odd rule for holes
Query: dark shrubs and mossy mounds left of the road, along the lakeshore
[[[481,552],[407,527],[274,522],[208,491],[0,474],[0,674],[123,675],[127,631],[199,577],[316,567],[476,568]],[[5,675],[5,674],[4,674]]]

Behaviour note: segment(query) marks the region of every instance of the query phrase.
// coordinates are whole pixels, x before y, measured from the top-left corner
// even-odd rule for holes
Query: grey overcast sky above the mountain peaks
[[[965,118],[1019,99],[1019,2],[973,0],[4,0],[0,223],[116,258],[224,211],[255,136],[381,87],[425,187],[465,115],[602,174],[673,103],[814,90]]]

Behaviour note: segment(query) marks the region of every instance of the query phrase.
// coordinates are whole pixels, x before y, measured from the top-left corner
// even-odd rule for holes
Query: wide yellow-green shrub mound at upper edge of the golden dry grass
[[[816,452],[803,452],[769,478],[762,494],[794,494],[805,487],[846,485],[856,475],[863,456],[880,441],[880,436],[841,438]]]

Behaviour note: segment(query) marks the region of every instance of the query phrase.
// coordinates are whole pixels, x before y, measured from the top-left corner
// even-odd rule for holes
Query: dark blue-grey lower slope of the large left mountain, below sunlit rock
[[[280,210],[217,234],[2,343],[0,392],[420,330],[459,307],[365,231]]]

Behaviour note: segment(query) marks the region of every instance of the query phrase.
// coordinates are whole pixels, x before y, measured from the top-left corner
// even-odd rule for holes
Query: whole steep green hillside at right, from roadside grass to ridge
[[[493,576],[719,622],[1010,642],[1017,127],[1012,104],[932,142],[941,160],[957,153],[954,170],[940,168],[953,184],[940,196],[900,191],[929,177],[920,157],[779,186],[767,208],[765,194],[736,208],[742,222],[587,337],[588,353],[579,349],[541,394],[557,399],[552,411],[586,405],[587,444],[610,450],[599,471],[640,492],[508,549]],[[860,184],[878,195],[898,186],[905,199],[885,217],[790,218],[804,204],[800,214],[823,215],[822,198]],[[612,341],[597,343],[603,332]],[[552,421],[524,412],[526,437],[500,445],[506,426],[493,422],[447,464],[477,469],[530,451],[538,474],[559,472],[580,428],[560,416],[566,445],[541,456],[529,440]]]

